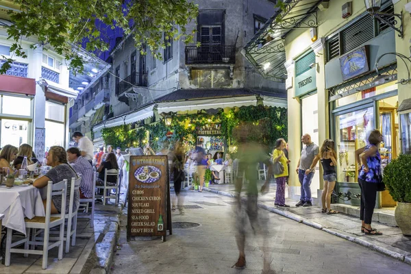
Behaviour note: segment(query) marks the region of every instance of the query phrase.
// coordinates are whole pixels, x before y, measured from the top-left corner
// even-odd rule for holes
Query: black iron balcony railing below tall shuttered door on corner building
[[[186,64],[235,64],[235,46],[187,46]]]

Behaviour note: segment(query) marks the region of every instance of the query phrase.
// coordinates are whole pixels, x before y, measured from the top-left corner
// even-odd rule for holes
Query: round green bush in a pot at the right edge
[[[384,169],[384,184],[394,201],[395,221],[406,236],[411,236],[411,155],[401,154]]]

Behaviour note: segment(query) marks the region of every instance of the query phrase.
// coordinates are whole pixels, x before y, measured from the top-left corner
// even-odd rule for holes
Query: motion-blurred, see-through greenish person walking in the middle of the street
[[[266,149],[253,140],[254,134],[258,135],[261,132],[260,127],[251,123],[242,123],[238,127],[233,129],[233,135],[236,136],[238,141],[238,172],[235,179],[236,184],[236,198],[237,203],[235,207],[236,212],[236,242],[239,251],[239,258],[233,267],[236,269],[245,269],[245,238],[246,238],[246,222],[247,218],[251,224],[254,234],[260,234],[262,236],[263,251],[267,251],[266,245],[269,240],[268,236],[268,218],[262,218],[258,212],[258,166],[260,162],[263,162],[269,168],[269,175],[272,172],[272,166],[270,163],[270,156]],[[254,138],[253,138],[254,136]],[[270,176],[268,176],[270,177]],[[245,199],[241,198],[241,192],[245,187]],[[269,190],[269,179],[267,178],[264,185],[260,189],[262,194],[265,194]],[[261,213],[261,212],[260,212]],[[270,262],[264,256],[264,273],[271,273]]]

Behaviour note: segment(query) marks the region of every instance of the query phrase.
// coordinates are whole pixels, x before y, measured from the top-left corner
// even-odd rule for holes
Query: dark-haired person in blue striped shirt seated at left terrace
[[[93,170],[90,162],[80,153],[77,147],[67,149],[67,159],[77,174],[81,174],[82,183],[80,184],[80,199],[88,199],[92,197],[92,180]]]

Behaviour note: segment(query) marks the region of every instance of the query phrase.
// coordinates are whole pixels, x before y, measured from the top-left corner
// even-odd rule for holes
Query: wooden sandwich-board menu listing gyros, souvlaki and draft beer
[[[130,156],[127,241],[172,234],[169,160],[166,155]]]

